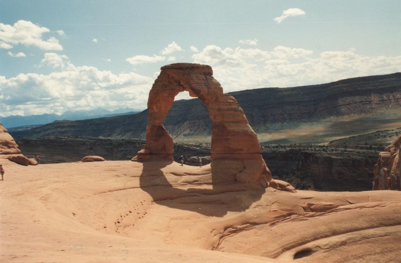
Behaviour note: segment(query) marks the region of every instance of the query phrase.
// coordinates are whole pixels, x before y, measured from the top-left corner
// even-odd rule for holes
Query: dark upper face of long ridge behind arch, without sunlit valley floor
[[[359,118],[369,114],[389,116],[392,111],[399,112],[401,73],[294,88],[243,90],[229,94],[237,99],[249,124],[258,133],[274,129],[275,126],[280,128],[290,122],[307,124],[332,117]],[[14,131],[12,135],[16,139],[44,136],[144,139],[147,116],[148,111],[145,110],[139,114],[111,118],[57,121],[28,131]],[[211,135],[212,122],[207,108],[198,99],[174,102],[163,124],[174,138]],[[342,123],[340,127],[333,125],[331,128],[338,129],[346,125]]]

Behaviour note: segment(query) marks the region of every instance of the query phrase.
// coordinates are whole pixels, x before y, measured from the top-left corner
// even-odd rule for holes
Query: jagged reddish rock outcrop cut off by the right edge
[[[401,134],[379,153],[373,169],[373,190],[401,190]]]

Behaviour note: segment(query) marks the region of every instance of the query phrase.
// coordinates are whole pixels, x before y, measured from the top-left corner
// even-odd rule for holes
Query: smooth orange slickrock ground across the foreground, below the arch
[[[290,193],[169,162],[3,165],[1,262],[401,258],[399,191]]]

